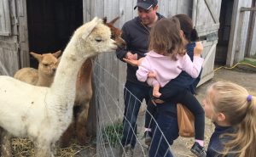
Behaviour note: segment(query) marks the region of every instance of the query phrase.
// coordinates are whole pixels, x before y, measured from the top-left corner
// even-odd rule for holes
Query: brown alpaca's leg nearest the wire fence
[[[81,106],[81,110],[76,119],[76,132],[78,136],[78,141],[81,145],[86,143],[86,126],[87,126],[87,118],[89,111],[89,102]]]

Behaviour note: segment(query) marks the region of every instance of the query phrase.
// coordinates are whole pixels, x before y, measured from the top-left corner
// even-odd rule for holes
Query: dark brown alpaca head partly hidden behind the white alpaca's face
[[[103,18],[104,24],[108,25],[108,27],[110,28],[111,38],[116,42],[119,48],[124,48],[126,46],[126,42],[122,38],[122,31],[113,25],[117,20],[119,20],[119,17],[114,18],[110,22],[107,22],[107,17]]]

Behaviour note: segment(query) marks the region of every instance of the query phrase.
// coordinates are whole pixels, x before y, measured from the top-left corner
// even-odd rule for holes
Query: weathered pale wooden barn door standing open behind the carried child
[[[221,0],[194,0],[192,19],[203,42],[203,71],[199,85],[210,80],[214,73],[214,60],[218,42]]]

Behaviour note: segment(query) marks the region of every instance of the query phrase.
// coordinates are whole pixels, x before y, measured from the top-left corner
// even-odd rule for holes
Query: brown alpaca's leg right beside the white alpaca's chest
[[[64,132],[61,136],[61,143],[60,147],[61,148],[67,148],[70,143],[71,139],[74,137],[74,121],[67,127],[66,132]]]

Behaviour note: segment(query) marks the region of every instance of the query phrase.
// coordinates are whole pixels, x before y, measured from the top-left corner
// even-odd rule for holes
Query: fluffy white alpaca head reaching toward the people
[[[77,40],[75,43],[76,49],[80,54],[87,57],[99,53],[114,52],[117,48],[116,42],[110,38],[110,29],[98,18],[80,26],[73,36]]]

